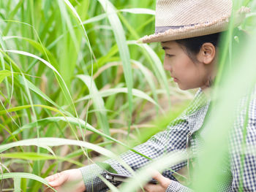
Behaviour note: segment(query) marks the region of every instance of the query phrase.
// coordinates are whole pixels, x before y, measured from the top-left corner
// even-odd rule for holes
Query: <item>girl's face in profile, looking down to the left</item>
[[[209,53],[207,49],[200,50],[200,53],[196,55],[198,62],[194,63],[177,42],[162,42],[161,45],[165,50],[164,69],[170,72],[170,76],[178,83],[181,90],[205,89],[209,86],[209,79],[214,74],[212,61],[214,61],[215,49],[214,55],[211,49]],[[209,60],[212,56],[213,58]],[[208,61],[211,62],[208,63]]]

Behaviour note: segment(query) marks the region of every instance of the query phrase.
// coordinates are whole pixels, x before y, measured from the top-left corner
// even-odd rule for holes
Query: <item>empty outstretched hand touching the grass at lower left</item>
[[[58,192],[83,192],[86,185],[83,183],[82,173],[79,169],[68,169],[45,178],[48,184]],[[49,191],[49,188],[46,189]]]

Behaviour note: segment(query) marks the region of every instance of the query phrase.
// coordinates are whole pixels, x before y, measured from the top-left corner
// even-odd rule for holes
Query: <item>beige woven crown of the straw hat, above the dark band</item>
[[[157,0],[156,26],[212,22],[230,15],[232,5],[232,0]]]

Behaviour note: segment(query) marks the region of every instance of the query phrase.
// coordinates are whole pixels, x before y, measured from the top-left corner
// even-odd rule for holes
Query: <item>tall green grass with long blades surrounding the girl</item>
[[[252,13],[239,28],[255,37],[255,1],[236,2],[241,4]],[[168,80],[159,44],[135,42],[154,31],[155,1],[7,0],[0,7],[3,189],[42,191],[42,178],[53,172],[93,162],[98,154],[116,157],[164,129],[195,93],[179,91]],[[195,172],[197,191],[214,191],[219,180],[212,165],[218,166],[227,153],[227,147],[217,149],[225,146],[232,119],[222,114],[230,114],[239,96],[255,85],[256,43],[252,40],[243,49],[238,44],[244,50],[238,60],[233,51],[241,39],[236,36],[231,22],[215,90],[223,100],[212,111],[219,115],[209,118],[214,132]],[[171,155],[154,166],[162,170],[183,158],[166,162]],[[139,188],[145,176],[146,169],[138,172],[133,186]],[[116,190],[131,191],[126,185]]]

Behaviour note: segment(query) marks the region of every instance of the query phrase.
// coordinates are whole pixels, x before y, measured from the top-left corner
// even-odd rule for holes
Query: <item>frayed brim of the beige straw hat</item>
[[[239,26],[246,13],[250,12],[248,7],[241,7],[234,15],[233,26]],[[217,20],[208,23],[199,23],[194,26],[185,26],[177,29],[168,29],[165,32],[158,34],[146,35],[138,39],[138,43],[148,43],[148,42],[167,42],[178,39],[187,39],[191,37],[200,37],[208,34],[215,34],[222,31],[226,31],[228,28],[228,23],[230,20],[230,15],[223,16]]]

